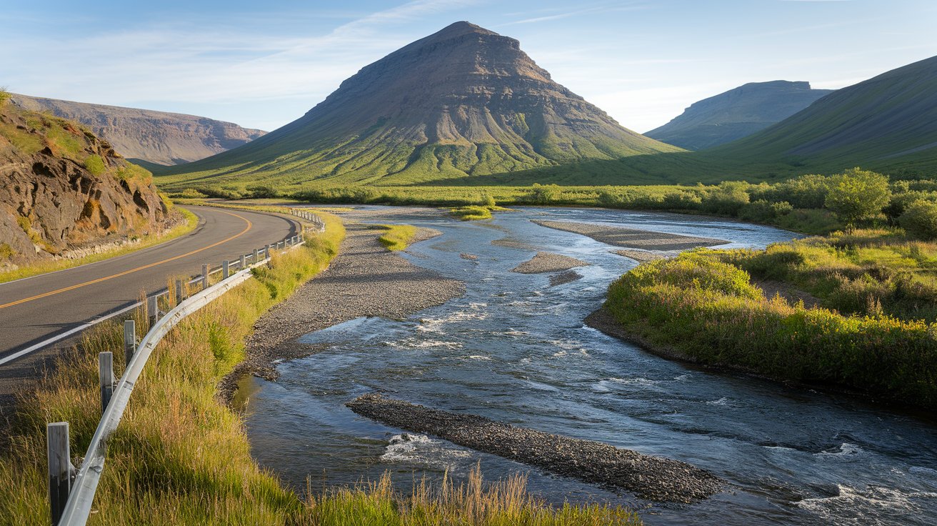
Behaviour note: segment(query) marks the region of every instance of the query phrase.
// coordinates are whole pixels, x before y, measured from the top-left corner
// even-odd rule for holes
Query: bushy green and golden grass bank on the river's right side
[[[849,240],[834,236],[825,247],[808,241],[765,252],[697,250],[674,260],[644,263],[612,283],[605,307],[651,348],[695,362],[780,380],[845,386],[875,398],[937,408],[937,324],[914,316],[901,319],[881,308],[848,315],[792,305],[780,296],[765,297],[743,270],[760,263],[766,273],[774,272],[777,263],[781,275],[769,274],[771,278],[831,278],[838,285],[825,298],[838,303],[843,298],[836,298],[837,291],[861,298],[875,288],[860,276],[853,290],[849,286],[855,282],[842,278],[840,273],[859,272],[856,260],[887,255],[890,263],[879,261],[889,268],[918,264],[902,258],[900,247],[878,247],[883,250],[878,253],[860,250],[840,258],[831,248],[838,241],[850,246]],[[906,248],[910,253],[912,248]],[[930,254],[923,257],[930,260]],[[933,312],[932,301],[926,303]]]

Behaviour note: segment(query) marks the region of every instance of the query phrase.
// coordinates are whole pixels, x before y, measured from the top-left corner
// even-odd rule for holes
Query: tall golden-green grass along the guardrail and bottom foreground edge
[[[323,234],[274,256],[255,279],[180,323],[156,348],[136,384],[89,524],[640,524],[632,512],[602,505],[552,507],[534,498],[523,477],[482,483],[427,483],[409,494],[389,478],[300,497],[250,457],[243,423],[216,398],[216,383],[244,356],[260,315],[290,296],[335,256],[340,221],[324,215]],[[146,326],[141,313],[137,326]],[[48,524],[45,425],[68,421],[75,456],[83,454],[100,417],[97,353],[123,364],[122,327],[104,323],[82,337],[22,395],[0,456],[0,524]],[[121,371],[116,371],[120,374]]]

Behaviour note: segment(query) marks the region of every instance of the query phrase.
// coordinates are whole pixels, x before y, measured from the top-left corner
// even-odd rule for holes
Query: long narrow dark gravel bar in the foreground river
[[[692,503],[719,492],[724,485],[716,475],[679,460],[515,428],[474,414],[440,411],[379,394],[363,395],[346,405],[387,426],[431,434],[551,473],[624,489],[651,501]]]

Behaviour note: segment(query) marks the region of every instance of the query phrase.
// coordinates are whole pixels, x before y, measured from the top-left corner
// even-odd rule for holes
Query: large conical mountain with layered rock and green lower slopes
[[[166,181],[405,184],[673,151],[555,83],[517,40],[460,22],[362,68],[289,125]]]

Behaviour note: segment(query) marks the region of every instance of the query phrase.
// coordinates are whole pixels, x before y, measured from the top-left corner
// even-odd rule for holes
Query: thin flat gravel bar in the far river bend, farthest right
[[[692,237],[677,233],[651,232],[632,228],[597,225],[592,223],[573,223],[568,221],[542,221],[534,223],[546,228],[587,235],[600,243],[607,243],[623,248],[644,248],[646,250],[688,250],[697,247],[724,245],[728,241],[708,237]]]

